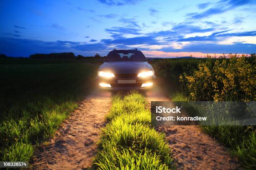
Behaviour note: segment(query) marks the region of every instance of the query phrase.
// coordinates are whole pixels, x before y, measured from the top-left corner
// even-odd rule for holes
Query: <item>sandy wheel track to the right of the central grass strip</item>
[[[150,101],[170,101],[161,92],[148,92]],[[169,125],[156,130],[166,134],[179,170],[236,170],[242,169],[217,140],[203,133],[200,126]]]

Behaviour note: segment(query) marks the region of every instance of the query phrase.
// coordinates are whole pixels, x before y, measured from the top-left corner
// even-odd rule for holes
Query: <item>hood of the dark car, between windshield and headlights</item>
[[[104,62],[99,69],[99,71],[108,71],[114,74],[134,74],[149,70],[153,70],[153,68],[148,62],[144,61]]]

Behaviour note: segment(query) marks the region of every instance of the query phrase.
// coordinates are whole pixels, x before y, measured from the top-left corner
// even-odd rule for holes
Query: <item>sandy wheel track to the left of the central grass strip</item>
[[[70,118],[61,125],[49,145],[41,146],[33,169],[72,170],[90,168],[97,152],[100,128],[110,109],[109,92],[92,93],[80,102]]]

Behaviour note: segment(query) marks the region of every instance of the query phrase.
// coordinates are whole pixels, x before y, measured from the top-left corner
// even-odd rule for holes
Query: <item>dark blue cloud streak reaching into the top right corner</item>
[[[202,13],[187,14],[191,16],[192,19],[202,19],[209,17],[211,15],[221,14],[227,12],[228,10],[233,10],[236,7],[243,5],[255,4],[256,1],[253,0],[220,0],[214,7],[211,7],[208,10],[205,10]]]

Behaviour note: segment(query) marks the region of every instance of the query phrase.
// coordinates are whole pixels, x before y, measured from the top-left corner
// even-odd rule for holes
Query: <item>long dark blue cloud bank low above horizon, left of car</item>
[[[107,50],[103,43],[87,44],[86,42],[73,41],[41,41],[23,38],[0,37],[0,51],[8,56],[28,57],[34,53],[51,52],[99,52]],[[95,52],[94,52],[95,53]],[[88,53],[87,53],[88,54]]]

